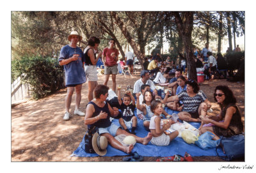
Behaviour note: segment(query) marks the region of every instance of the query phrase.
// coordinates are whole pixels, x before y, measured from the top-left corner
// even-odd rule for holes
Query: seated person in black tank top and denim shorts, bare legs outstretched
[[[141,138],[133,135],[131,133],[122,130],[120,126],[116,126],[111,123],[109,120],[111,117],[118,116],[118,109],[112,107],[106,103],[106,98],[108,97],[108,89],[109,87],[104,85],[98,85],[94,89],[95,98],[88,103],[86,107],[86,115],[84,117],[84,124],[88,126],[88,128],[92,128],[92,126],[97,126],[99,128],[99,135],[102,135],[108,139],[109,144],[115,149],[120,149],[125,153],[131,153],[133,146],[123,146],[118,140],[115,139],[116,135],[124,134],[131,135],[135,137],[136,141],[147,145],[148,142],[152,139],[152,134],[148,133],[147,137]]]

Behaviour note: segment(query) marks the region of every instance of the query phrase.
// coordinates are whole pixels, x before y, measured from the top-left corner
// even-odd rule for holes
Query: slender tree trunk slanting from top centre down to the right
[[[138,57],[138,60],[140,61],[141,64],[141,68],[143,69],[143,59],[145,56],[138,49],[138,44],[132,38],[131,34],[127,30],[127,27],[124,25],[124,22],[122,22],[120,17],[118,17],[118,14],[115,11],[111,11],[110,14],[113,17],[113,19],[115,19],[116,25],[120,28],[128,43],[131,45],[134,54],[136,54],[136,56]]]

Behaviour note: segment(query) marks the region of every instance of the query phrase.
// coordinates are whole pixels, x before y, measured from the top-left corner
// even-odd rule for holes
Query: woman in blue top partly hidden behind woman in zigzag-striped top
[[[176,90],[176,95],[179,94],[181,91],[186,91],[187,89],[187,85],[185,84],[186,82],[186,78],[184,76],[180,76],[177,78],[177,83],[178,83],[178,87],[177,87],[177,90]],[[183,105],[183,102],[180,101],[180,102],[169,102],[167,103],[167,107],[172,109],[172,110],[178,110],[178,111],[181,111],[182,108],[184,107]]]

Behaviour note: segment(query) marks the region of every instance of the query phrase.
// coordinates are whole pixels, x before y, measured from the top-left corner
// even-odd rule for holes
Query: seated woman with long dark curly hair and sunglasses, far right
[[[227,86],[216,86],[214,100],[220,105],[221,111],[218,116],[202,117],[202,123],[212,123],[214,126],[207,126],[200,129],[200,133],[211,132],[216,135],[213,139],[231,137],[243,133],[241,114],[236,106],[236,98]],[[219,122],[224,120],[223,122]]]

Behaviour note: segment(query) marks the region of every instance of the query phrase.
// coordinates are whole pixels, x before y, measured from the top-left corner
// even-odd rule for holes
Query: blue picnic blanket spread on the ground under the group
[[[173,112],[178,113],[177,111],[173,111],[167,108],[165,108],[165,110],[168,114],[172,114]],[[118,119],[114,119],[112,123],[115,123],[118,126],[120,125],[118,122]],[[191,124],[192,126],[195,126],[195,128],[200,127],[200,123],[189,123],[189,124]],[[138,119],[138,125],[135,132],[138,137],[145,137],[148,134],[148,131],[145,130],[145,128],[143,127],[143,121],[140,119]],[[105,156],[128,155],[127,153],[124,153],[123,151],[115,149],[110,145],[108,145],[107,151],[108,152]],[[184,156],[186,152],[191,154],[191,156],[217,156],[216,148],[210,148],[210,149],[204,150],[196,146],[196,144],[187,144],[182,138],[179,138],[179,137],[176,137],[175,139],[173,139],[168,146],[155,146],[150,142],[147,145],[136,143],[132,151],[133,152],[136,151],[141,156],[165,157],[165,156],[173,156],[174,154],[180,154],[181,156]],[[220,156],[225,156],[225,154],[223,153],[220,147],[218,147],[218,153]],[[71,156],[95,157],[99,155],[86,153],[84,151],[84,138],[83,138],[82,142],[79,144],[76,151],[74,151],[74,153],[72,153]]]

